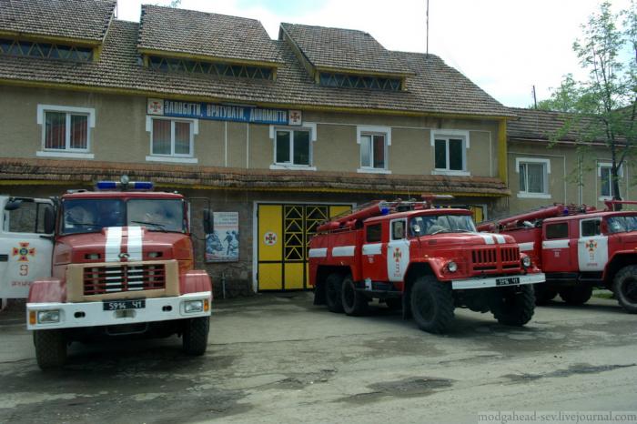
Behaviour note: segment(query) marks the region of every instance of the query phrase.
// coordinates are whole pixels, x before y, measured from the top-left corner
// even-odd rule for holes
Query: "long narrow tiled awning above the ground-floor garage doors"
[[[54,180],[91,184],[99,179],[129,177],[148,179],[159,186],[204,186],[228,189],[287,189],[314,192],[330,189],[344,193],[455,193],[508,196],[510,190],[498,178],[361,175],[357,173],[294,172],[226,167],[190,167],[156,164],[124,164],[55,159],[0,158],[4,180]]]

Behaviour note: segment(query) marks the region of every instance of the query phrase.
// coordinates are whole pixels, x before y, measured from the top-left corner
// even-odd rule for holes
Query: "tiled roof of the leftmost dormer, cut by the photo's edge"
[[[0,31],[102,41],[116,0],[0,0]]]

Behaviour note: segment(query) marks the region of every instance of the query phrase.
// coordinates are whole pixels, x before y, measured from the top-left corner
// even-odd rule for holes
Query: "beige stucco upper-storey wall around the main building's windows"
[[[0,141],[10,146],[3,149],[2,156],[35,157],[43,150],[43,128],[36,122],[38,105],[94,108],[96,126],[90,129],[89,153],[95,160],[143,163],[150,155],[145,97],[8,86],[0,86],[0,92],[0,126],[9,128]],[[392,174],[430,175],[431,130],[444,128],[469,131],[467,170],[471,176],[497,175],[495,121],[306,112],[304,122],[317,124],[312,165],[318,171],[357,172],[357,126],[388,126]],[[274,142],[269,126],[199,120],[194,156],[194,165],[199,166],[268,169],[274,160]]]

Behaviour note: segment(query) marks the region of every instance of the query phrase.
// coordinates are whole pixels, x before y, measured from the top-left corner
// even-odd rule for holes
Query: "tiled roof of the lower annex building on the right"
[[[564,112],[519,107],[511,107],[511,112],[519,118],[507,124],[507,136],[511,139],[581,142],[590,141],[584,138],[590,138],[595,128],[601,129],[589,117]],[[597,141],[603,142],[602,138],[597,138]]]

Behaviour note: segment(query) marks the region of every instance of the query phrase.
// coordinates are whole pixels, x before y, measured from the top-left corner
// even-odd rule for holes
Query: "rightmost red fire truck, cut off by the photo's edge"
[[[622,308],[637,313],[637,211],[615,210],[637,202],[605,204],[605,210],[556,204],[478,228],[514,237],[542,269],[547,282],[535,290],[539,304],[559,293],[581,305],[593,288],[608,288]]]

